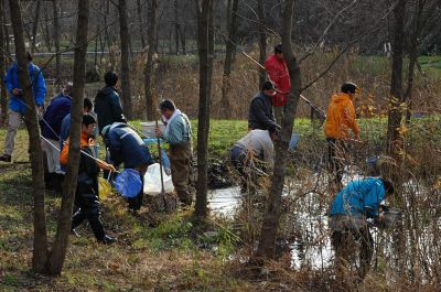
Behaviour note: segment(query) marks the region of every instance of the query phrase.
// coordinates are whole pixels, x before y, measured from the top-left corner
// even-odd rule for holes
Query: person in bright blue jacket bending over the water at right
[[[349,262],[354,242],[359,242],[359,277],[363,279],[366,275],[374,248],[366,219],[383,221],[384,201],[392,194],[394,184],[389,180],[368,177],[348,183],[335,196],[330,212],[330,227],[340,271]]]

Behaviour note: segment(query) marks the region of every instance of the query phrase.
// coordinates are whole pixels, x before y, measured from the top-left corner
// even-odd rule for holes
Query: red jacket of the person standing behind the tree
[[[272,106],[284,106],[288,102],[288,95],[291,90],[287,63],[278,60],[276,54],[273,54],[265,61],[265,69],[267,71],[268,78],[276,85],[276,89],[282,93],[276,93],[276,95],[271,97]]]

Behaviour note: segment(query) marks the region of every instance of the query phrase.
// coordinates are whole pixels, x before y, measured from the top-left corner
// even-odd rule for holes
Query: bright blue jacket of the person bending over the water
[[[385,186],[380,179],[353,181],[335,196],[330,215],[376,218],[385,196]]]

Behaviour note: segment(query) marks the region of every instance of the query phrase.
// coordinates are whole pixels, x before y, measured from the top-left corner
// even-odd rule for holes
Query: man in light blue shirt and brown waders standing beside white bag
[[[159,104],[165,131],[155,128],[158,138],[170,144],[169,159],[172,171],[172,182],[179,199],[184,206],[192,205],[192,126],[189,117],[176,108],[171,99]]]

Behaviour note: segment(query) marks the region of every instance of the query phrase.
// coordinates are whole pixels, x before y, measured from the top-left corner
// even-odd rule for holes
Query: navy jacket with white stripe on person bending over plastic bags
[[[115,165],[122,162],[125,169],[136,169],[152,163],[149,149],[142,139],[123,122],[115,122],[105,133],[106,147]]]

